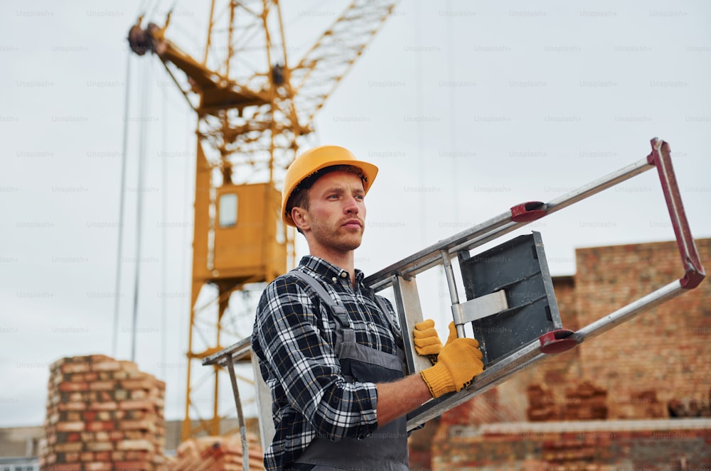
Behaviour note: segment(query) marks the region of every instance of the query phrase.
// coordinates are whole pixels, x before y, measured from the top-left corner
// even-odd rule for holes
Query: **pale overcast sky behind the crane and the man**
[[[208,8],[191,3],[176,2],[167,32],[188,52],[201,47]],[[141,4],[163,23],[172,3]],[[0,426],[42,423],[55,360],[113,354],[127,87],[116,356],[131,356],[138,273],[136,360],[166,380],[167,418],[182,417],[196,117],[157,58],[129,56],[141,4],[0,4]],[[344,2],[282,4],[295,61]],[[654,136],[671,145],[694,236],[711,237],[710,20],[707,1],[402,2],[311,138],[380,167],[358,266],[373,273],[515,204],[552,200],[644,158]],[[574,274],[576,248],[673,239],[654,171],[516,234],[531,229],[554,275]],[[424,279],[442,327],[442,276]],[[248,335],[252,313],[236,317]]]

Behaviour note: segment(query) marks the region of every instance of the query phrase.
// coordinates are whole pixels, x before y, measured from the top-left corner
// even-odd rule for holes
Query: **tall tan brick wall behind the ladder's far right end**
[[[702,264],[711,239],[696,241]],[[674,242],[577,251],[576,303],[581,325],[660,288],[683,274]],[[582,376],[609,390],[610,416],[645,391],[659,401],[707,401],[711,390],[711,283],[641,314],[579,347]]]

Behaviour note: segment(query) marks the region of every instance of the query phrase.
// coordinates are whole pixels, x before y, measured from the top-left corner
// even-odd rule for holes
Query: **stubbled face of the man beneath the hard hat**
[[[309,189],[306,222],[319,247],[349,251],[360,247],[365,229],[365,191],[358,175],[334,171]]]

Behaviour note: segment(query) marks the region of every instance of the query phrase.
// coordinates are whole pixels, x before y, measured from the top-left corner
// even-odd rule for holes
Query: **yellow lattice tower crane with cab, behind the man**
[[[210,417],[199,417],[196,361],[223,348],[230,295],[294,264],[294,233],[282,224],[279,188],[316,112],[391,16],[397,1],[355,0],[299,63],[287,57],[278,0],[212,0],[201,57],[143,17],[129,31],[134,53],[157,55],[198,115],[188,377],[182,438],[220,434],[215,366]],[[218,313],[196,305],[217,288]],[[206,328],[207,327],[207,328]],[[205,335],[210,332],[210,337]]]

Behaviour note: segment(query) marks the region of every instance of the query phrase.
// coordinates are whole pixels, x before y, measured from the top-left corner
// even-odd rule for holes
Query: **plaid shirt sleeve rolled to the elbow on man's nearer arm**
[[[318,308],[293,278],[279,277],[262,293],[257,354],[267,369],[267,384],[279,384],[286,396],[272,400],[287,401],[321,436],[364,438],[378,427],[377,389],[373,383],[346,381],[320,325]]]

